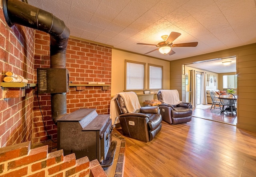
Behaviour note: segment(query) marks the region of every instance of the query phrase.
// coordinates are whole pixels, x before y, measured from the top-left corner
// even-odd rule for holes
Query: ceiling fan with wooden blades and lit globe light
[[[176,40],[181,34],[178,32],[171,32],[171,34],[168,35],[164,35],[161,36],[161,38],[164,40],[162,42],[159,42],[158,44],[144,44],[144,43],[137,43],[140,45],[148,45],[148,46],[156,46],[158,48],[151,50],[145,54],[149,54],[150,52],[154,52],[156,50],[159,50],[160,53],[162,54],[169,54],[169,55],[173,55],[176,52],[174,52],[173,50],[171,50],[171,48],[173,47],[196,47],[198,42],[188,42],[188,43],[180,43],[180,44],[172,44],[172,42],[174,40]]]

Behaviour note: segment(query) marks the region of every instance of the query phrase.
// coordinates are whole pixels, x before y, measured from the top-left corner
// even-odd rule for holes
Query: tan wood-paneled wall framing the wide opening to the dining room
[[[185,93],[183,93],[182,64],[229,56],[236,56],[236,73],[238,75],[238,122],[236,126],[256,132],[256,43],[171,61],[170,89],[177,89],[180,99],[183,101]]]

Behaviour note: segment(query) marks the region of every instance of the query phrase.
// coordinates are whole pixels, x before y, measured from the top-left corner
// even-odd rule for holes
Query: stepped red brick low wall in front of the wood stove
[[[30,149],[30,141],[0,148],[0,177],[107,177],[98,160],[64,156],[63,150]]]

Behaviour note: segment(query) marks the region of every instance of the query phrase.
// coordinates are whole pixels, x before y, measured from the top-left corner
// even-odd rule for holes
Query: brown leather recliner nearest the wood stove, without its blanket
[[[157,106],[141,107],[134,113],[128,113],[124,99],[116,98],[120,108],[119,120],[125,136],[151,141],[162,128],[162,116]]]

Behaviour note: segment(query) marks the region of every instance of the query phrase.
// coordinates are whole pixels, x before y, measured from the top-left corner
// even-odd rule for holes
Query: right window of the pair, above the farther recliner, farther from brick
[[[163,66],[148,64],[149,89],[163,88]]]

